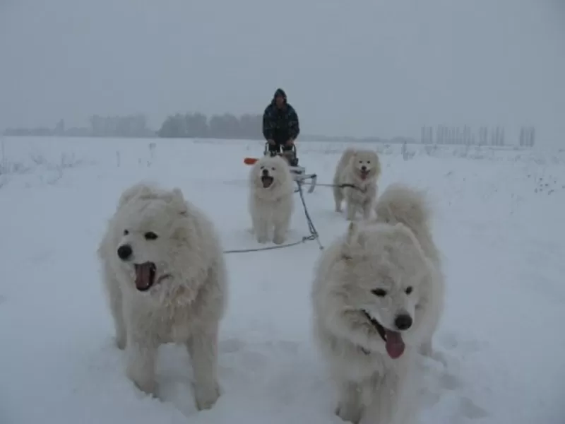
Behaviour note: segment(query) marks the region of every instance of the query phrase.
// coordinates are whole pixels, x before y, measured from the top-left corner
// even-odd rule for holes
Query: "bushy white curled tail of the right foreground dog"
[[[404,184],[391,184],[375,205],[377,223],[401,223],[418,235],[429,234],[431,209],[424,192]]]

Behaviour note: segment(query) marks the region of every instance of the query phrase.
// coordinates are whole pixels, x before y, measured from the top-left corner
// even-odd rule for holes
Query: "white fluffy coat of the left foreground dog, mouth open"
[[[147,232],[155,232],[157,239],[146,240]],[[117,255],[122,245],[133,249],[128,260]],[[227,298],[225,262],[213,223],[185,201],[180,189],[139,183],[121,195],[97,252],[117,346],[126,350],[128,377],[158,396],[157,349],[182,343],[193,364],[196,406],[213,406],[220,396],[218,326]],[[134,283],[134,264],[145,261],[155,263],[156,282],[141,292]]]

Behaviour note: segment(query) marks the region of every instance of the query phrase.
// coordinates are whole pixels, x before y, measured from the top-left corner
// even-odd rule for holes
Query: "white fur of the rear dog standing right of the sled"
[[[368,170],[367,177],[362,178],[361,167]],[[347,148],[335,167],[333,177],[333,199],[335,211],[341,212],[343,199],[347,203],[347,220],[354,220],[357,211],[364,219],[371,217],[371,209],[377,195],[377,180],[381,175],[379,155],[375,151]],[[357,188],[343,187],[342,184],[353,184]]]

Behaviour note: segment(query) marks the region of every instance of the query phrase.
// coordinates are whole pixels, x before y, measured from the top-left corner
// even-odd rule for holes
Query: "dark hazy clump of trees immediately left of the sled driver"
[[[263,138],[261,126],[262,114],[242,114],[237,117],[225,113],[213,115],[208,119],[205,114],[186,113],[170,115],[157,131],[157,136],[164,138],[210,138],[210,139],[248,139]]]

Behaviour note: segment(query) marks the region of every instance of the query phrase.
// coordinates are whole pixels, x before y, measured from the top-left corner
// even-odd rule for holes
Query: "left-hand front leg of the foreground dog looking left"
[[[126,374],[138,389],[147,394],[157,394],[155,382],[155,360],[157,345],[153,341],[145,341],[128,335],[126,343]]]

